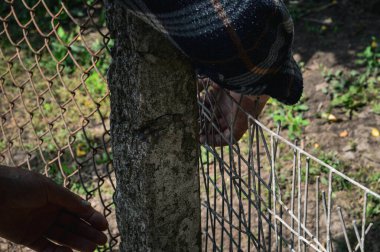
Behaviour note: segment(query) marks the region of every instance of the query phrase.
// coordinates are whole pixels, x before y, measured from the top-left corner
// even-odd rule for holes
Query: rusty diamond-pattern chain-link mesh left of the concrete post
[[[102,1],[0,2],[0,163],[89,199],[111,223],[102,251],[118,239],[105,81],[111,43]]]

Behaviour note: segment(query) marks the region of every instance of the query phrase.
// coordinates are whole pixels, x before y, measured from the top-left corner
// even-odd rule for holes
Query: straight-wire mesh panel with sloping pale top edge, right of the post
[[[375,251],[366,235],[376,221],[367,211],[380,195],[304,151],[257,121],[228,92],[244,114],[248,131],[236,144],[215,147],[223,125],[223,104],[203,82],[198,99],[204,251]],[[211,101],[210,101],[211,100]],[[212,104],[212,106],[210,106]],[[222,118],[222,119],[220,119]],[[235,125],[235,126],[234,126]],[[350,198],[353,205],[347,204]],[[365,245],[366,244],[366,245]]]

